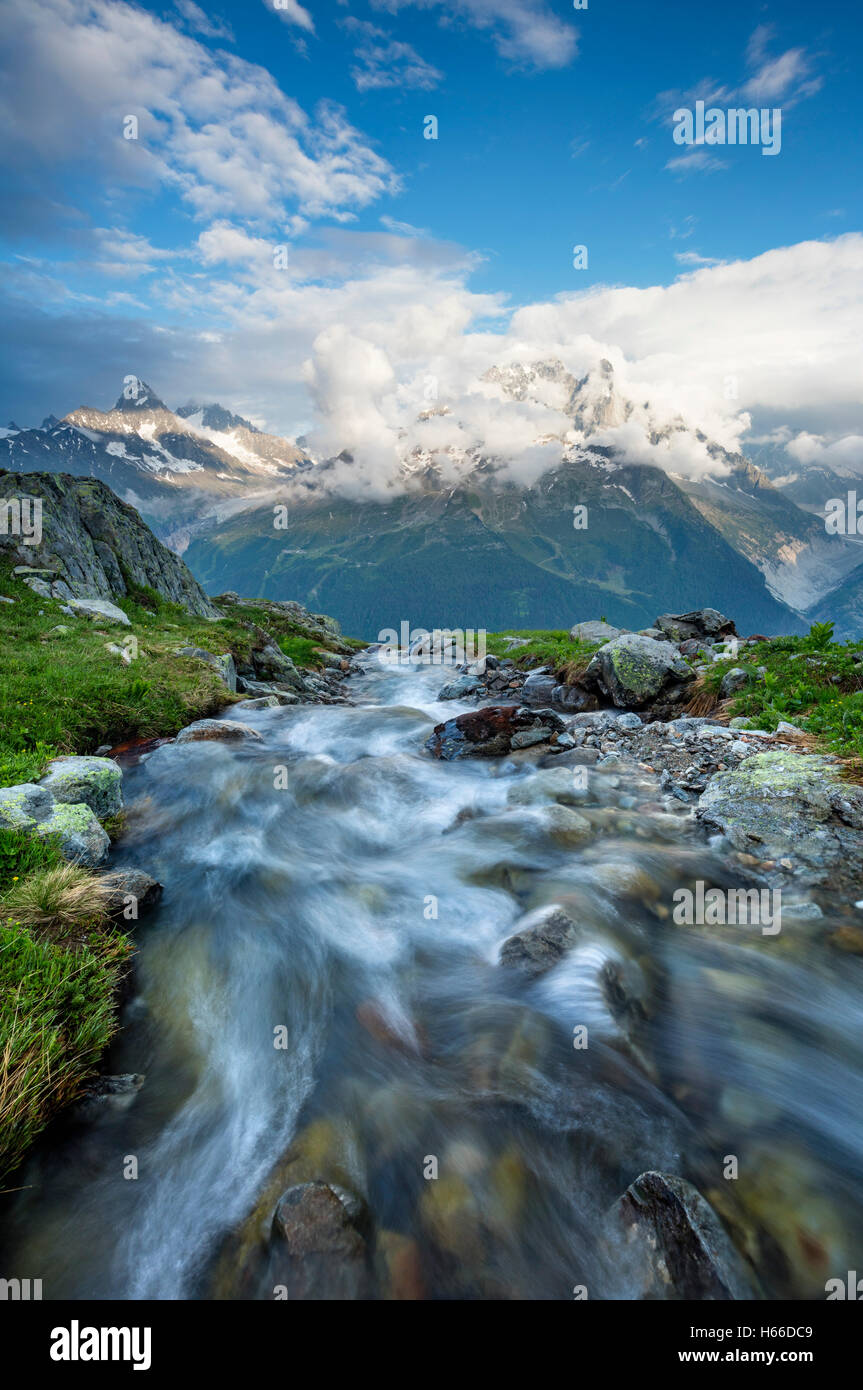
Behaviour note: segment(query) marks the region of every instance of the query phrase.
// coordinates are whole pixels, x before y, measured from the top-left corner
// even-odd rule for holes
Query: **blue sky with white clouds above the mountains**
[[[682,375],[699,334],[734,343],[712,307],[727,299],[743,338],[774,316],[757,361],[728,371],[739,409],[775,424],[806,407],[795,370],[812,346],[845,353],[837,286],[862,222],[850,3],[3,0],[0,14],[4,418],[108,404],[131,370],[172,402],[231,396],[285,432],[339,413],[334,431],[361,432],[429,363],[472,370],[488,331],[506,352],[571,350],[574,368],[582,336],[611,342],[645,379],[680,348]],[[699,97],[780,107],[781,153],[681,150],[671,113]],[[810,243],[777,291],[770,254]],[[782,300],[798,277],[795,352]],[[813,382],[812,428],[837,434],[855,395],[823,356],[835,418]],[[345,361],[365,385],[342,379]],[[723,361],[702,364],[681,407],[720,377]]]

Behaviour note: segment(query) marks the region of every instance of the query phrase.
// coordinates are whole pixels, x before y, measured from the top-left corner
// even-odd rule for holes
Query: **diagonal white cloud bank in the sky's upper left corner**
[[[122,0],[6,0],[0,135],[26,168],[167,188],[195,215],[350,218],[397,181],[346,120]],[[126,117],[138,132],[124,138]]]

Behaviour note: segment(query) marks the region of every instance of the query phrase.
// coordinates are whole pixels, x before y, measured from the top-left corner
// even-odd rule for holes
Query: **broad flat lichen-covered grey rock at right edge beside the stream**
[[[735,849],[788,859],[810,883],[859,884],[863,788],[842,781],[825,755],[756,753],[710,780],[696,816]]]

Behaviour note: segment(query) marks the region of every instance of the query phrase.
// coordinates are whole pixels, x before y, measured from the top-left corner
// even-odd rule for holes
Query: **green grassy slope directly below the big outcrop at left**
[[[121,600],[131,628],[67,617],[57,603],[13,580],[8,569],[0,570],[0,594],[15,600],[0,607],[0,787],[33,781],[58,753],[167,737],[231,703],[224,682],[204,663],[176,656],[179,646],[246,660],[260,644],[257,624],[297,666],[320,666],[321,651],[329,648],[303,635],[293,620],[263,609],[213,623],[151,589]],[[51,635],[57,624],[69,631]],[[106,644],[122,646],[129,635],[138,657],[124,666]],[[334,638],[332,646],[340,641]]]

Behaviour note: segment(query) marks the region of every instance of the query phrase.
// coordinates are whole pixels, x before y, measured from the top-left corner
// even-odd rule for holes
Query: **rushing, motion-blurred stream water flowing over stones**
[[[859,1266],[860,962],[824,922],[673,926],[674,888],[735,881],[688,810],[625,766],[585,785],[525,755],[434,762],[432,726],[467,708],[441,684],[370,663],[354,708],[245,713],[263,742],[128,769],[115,859],[165,894],[110,1069],[146,1081],[56,1127],[3,1198],[3,1265],[44,1297],[272,1297],[243,1223],[309,1176],[411,1252],[406,1297],[636,1297],[609,1212],[646,1169],[709,1197],[767,1297]],[[575,949],[534,980],[498,965],[550,902]]]

